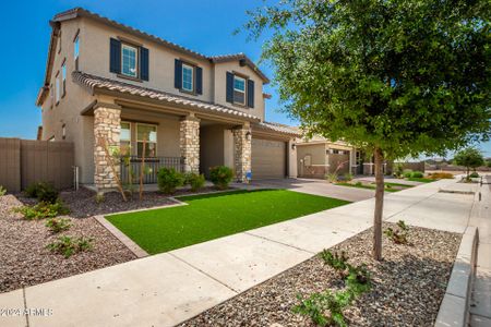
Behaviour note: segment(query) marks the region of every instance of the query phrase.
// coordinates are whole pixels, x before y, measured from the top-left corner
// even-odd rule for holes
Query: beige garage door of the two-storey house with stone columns
[[[286,173],[286,144],[252,138],[252,179],[280,179]]]

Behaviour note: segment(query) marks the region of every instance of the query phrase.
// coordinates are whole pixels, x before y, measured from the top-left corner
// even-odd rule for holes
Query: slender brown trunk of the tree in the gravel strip
[[[382,171],[383,154],[375,148],[375,213],[373,216],[373,258],[382,259],[382,214],[384,208],[384,173]]]

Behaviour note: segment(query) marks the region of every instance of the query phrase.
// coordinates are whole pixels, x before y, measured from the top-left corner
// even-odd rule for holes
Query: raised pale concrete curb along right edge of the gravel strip
[[[469,300],[476,274],[478,241],[478,229],[468,226],[463,234],[434,326],[468,326]]]

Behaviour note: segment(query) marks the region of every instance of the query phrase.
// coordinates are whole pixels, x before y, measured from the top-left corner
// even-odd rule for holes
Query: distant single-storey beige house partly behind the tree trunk
[[[296,143],[298,177],[324,178],[327,173],[374,174],[373,158],[346,142],[331,142],[322,136],[303,137]],[[384,173],[392,172],[392,165],[385,162]]]

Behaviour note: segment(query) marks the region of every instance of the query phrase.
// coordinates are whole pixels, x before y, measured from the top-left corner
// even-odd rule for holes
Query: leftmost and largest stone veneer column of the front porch
[[[109,152],[116,146],[119,147],[120,132],[121,107],[113,104],[97,104],[94,109],[94,184],[97,192],[118,186],[103,144],[106,144]],[[116,173],[119,174],[119,162],[113,164]]]

